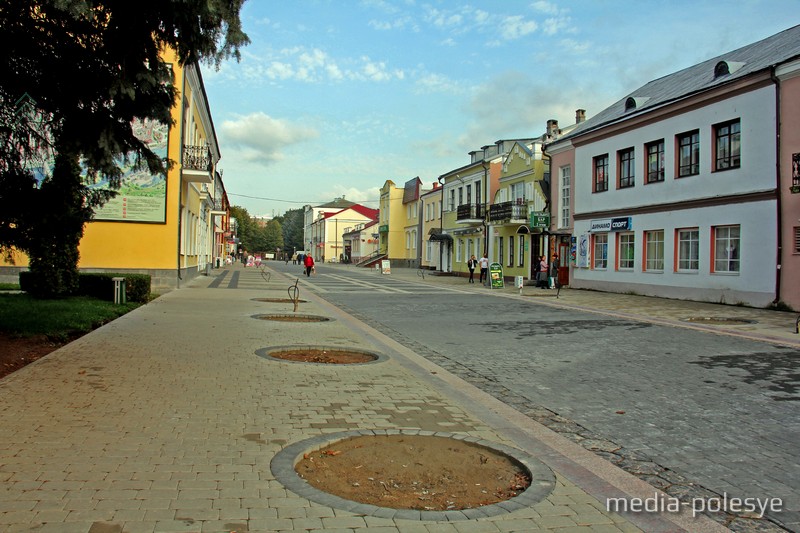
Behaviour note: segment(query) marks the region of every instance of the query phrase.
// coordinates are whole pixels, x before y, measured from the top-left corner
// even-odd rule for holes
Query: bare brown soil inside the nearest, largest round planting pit
[[[483,446],[446,437],[375,435],[307,453],[297,473],[347,500],[420,511],[471,509],[530,486],[527,470]]]

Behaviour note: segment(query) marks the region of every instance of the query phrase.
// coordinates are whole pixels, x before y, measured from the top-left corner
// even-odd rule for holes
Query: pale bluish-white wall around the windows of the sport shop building
[[[731,119],[741,120],[741,166],[712,172],[713,125]],[[676,178],[675,136],[699,129],[700,172]],[[687,108],[663,120],[639,128],[622,130],[598,140],[578,145],[575,150],[576,236],[590,234],[593,220],[630,216],[634,234],[635,264],[632,270],[619,270],[615,243],[620,232],[596,231],[608,238],[608,266],[576,268],[573,286],[633,291],[674,298],[691,298],[725,303],[768,305],[774,298],[777,234],[775,189],[775,100],[774,89],[759,88],[697,109]],[[664,139],[665,179],[645,184],[645,143]],[[579,142],[579,141],[578,141]],[[635,186],[617,189],[616,154],[635,149]],[[609,190],[592,192],[593,158],[609,154]],[[758,195],[759,191],[764,194]],[[753,193],[743,202],[731,195]],[[702,201],[700,204],[687,203]],[[680,203],[683,202],[683,203]],[[712,270],[712,228],[732,225],[740,228],[740,270],[715,273]],[[678,272],[676,230],[699,231],[699,269]],[[664,231],[664,267],[661,272],[645,271],[644,232]]]

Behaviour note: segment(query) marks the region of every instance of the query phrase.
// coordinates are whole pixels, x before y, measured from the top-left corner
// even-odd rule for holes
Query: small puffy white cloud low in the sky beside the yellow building
[[[280,160],[283,148],[319,136],[314,128],[292,124],[262,112],[226,120],[220,132],[222,142],[239,149],[244,159],[265,163]]]

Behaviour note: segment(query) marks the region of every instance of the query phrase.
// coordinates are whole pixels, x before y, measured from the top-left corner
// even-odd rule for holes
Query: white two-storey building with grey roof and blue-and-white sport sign
[[[798,54],[800,27],[654,80],[554,143],[572,183],[573,287],[792,300],[795,254],[778,243],[797,216],[779,205],[791,163],[778,164],[776,135],[791,120],[775,74]],[[796,91],[791,79],[783,88]]]

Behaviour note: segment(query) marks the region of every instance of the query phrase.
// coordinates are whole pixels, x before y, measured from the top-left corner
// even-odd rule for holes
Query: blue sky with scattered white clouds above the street
[[[800,24],[800,0],[249,0],[202,66],[232,205],[282,215],[426,188],[500,139]]]

